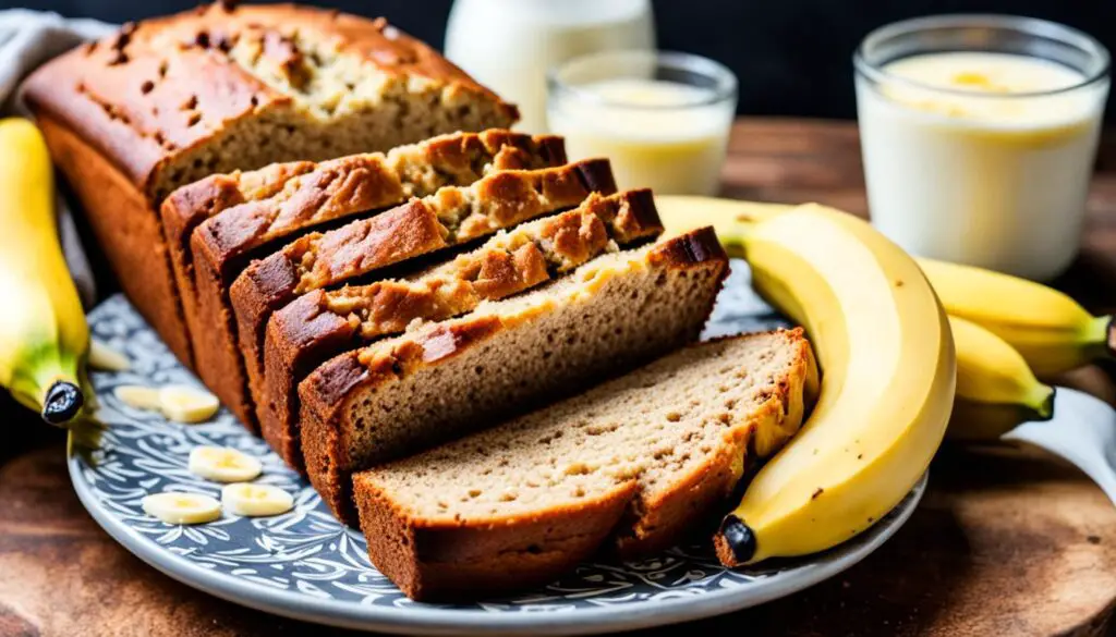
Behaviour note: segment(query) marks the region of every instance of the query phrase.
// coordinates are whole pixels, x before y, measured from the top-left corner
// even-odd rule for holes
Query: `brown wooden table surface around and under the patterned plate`
[[[748,119],[733,132],[724,194],[819,201],[865,213],[856,127]],[[1101,147],[1085,250],[1058,282],[1116,309],[1116,132]],[[1097,369],[1068,382],[1113,402]],[[88,517],[64,438],[0,405],[0,636],[340,635],[209,597],[148,568]],[[946,448],[895,538],[796,596],[685,630],[754,635],[1095,635],[1116,605],[1116,509],[1039,452]],[[645,635],[682,633],[680,628]]]

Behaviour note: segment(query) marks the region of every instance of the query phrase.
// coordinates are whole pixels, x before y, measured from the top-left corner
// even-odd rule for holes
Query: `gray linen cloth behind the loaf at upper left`
[[[107,36],[115,29],[115,26],[97,20],[70,20],[46,11],[0,11],[0,115],[28,115],[18,87],[39,65],[85,40]],[[66,202],[61,196],[57,196],[56,201],[58,232],[66,263],[81,300],[88,307],[96,299],[93,272]]]

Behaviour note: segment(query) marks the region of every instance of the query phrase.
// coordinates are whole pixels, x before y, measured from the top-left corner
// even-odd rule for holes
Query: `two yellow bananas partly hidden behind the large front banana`
[[[668,233],[713,225],[725,250],[744,255],[760,221],[795,206],[701,196],[656,197]],[[958,349],[953,440],[991,441],[1051,417],[1049,378],[1116,354],[1116,320],[1094,317],[1046,286],[968,266],[916,259],[950,315]]]

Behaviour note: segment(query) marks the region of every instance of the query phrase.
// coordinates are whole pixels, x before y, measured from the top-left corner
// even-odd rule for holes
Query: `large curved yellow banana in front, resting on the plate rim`
[[[821,394],[724,519],[728,566],[820,551],[887,513],[937,450],[955,384],[933,289],[866,222],[805,205],[754,223],[741,244],[757,291],[809,332]]]

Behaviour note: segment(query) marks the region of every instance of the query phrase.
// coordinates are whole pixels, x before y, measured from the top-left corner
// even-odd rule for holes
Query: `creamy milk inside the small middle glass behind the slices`
[[[571,160],[608,157],[622,189],[714,194],[735,102],[680,83],[615,78],[551,99],[550,129]]]

